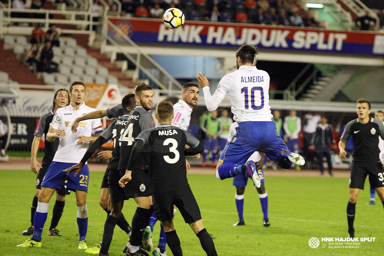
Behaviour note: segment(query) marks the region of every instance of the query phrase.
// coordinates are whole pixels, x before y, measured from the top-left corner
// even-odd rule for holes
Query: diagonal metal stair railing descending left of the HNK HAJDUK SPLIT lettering
[[[154,59],[144,52],[135,42],[133,42],[124,32],[116,27],[111,21],[106,19],[106,40],[116,46],[119,51],[129,59],[136,69],[146,74],[159,88],[168,91],[181,90],[182,85],[162,68]],[[136,53],[124,52],[122,46],[131,46],[136,49]]]

